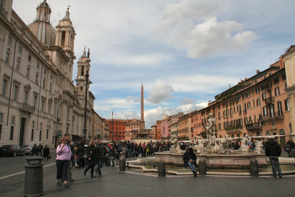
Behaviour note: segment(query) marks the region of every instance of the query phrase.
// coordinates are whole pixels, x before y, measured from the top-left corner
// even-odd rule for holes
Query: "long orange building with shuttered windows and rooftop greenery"
[[[250,79],[216,95],[208,107],[191,113],[194,119],[194,138],[204,136],[202,123],[212,113],[216,120],[217,138],[262,135],[289,135],[290,111],[285,92],[286,72],[283,59]],[[289,139],[289,137],[287,137]],[[287,140],[288,140],[287,139]],[[285,143],[284,137],[280,138]]]

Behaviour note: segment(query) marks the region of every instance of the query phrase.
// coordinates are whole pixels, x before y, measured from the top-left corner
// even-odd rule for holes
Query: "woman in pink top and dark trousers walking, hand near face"
[[[63,181],[64,186],[66,188],[70,187],[68,185],[68,166],[69,166],[69,160],[71,159],[71,148],[66,144],[65,137],[62,137],[60,140],[60,145],[56,148],[56,185],[61,186],[59,180]]]

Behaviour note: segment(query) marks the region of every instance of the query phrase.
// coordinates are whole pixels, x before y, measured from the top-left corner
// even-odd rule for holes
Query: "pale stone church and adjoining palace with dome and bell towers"
[[[74,65],[76,32],[69,10],[55,27],[50,13],[44,0],[37,6],[36,18],[26,25],[12,9],[12,1],[1,1],[0,145],[41,142],[56,147],[65,133],[73,141],[83,136],[85,74],[90,63],[84,48]],[[73,66],[78,66],[76,85]],[[94,138],[94,99],[88,91],[87,139]]]

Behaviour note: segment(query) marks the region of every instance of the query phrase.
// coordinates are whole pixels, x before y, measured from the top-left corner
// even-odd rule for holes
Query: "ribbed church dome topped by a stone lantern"
[[[36,9],[37,17],[28,25],[28,27],[42,44],[54,46],[56,29],[50,22],[51,8],[46,0],[44,0]]]

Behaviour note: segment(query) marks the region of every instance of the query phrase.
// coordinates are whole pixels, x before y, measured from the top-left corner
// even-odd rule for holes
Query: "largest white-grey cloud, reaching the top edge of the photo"
[[[226,56],[246,49],[259,37],[237,21],[218,21],[218,3],[181,1],[167,5],[158,32],[192,59]]]

